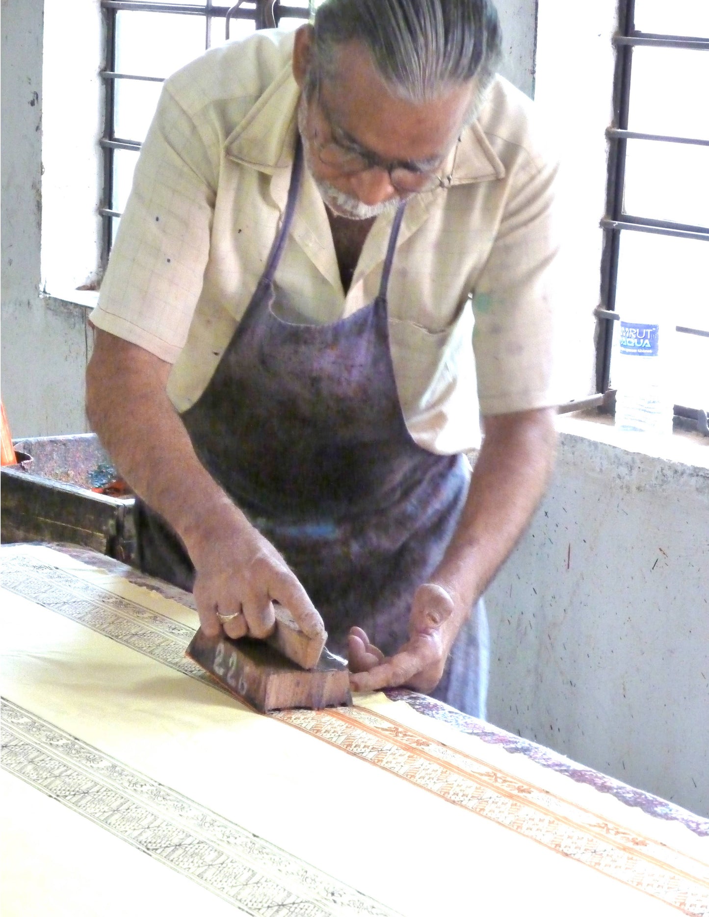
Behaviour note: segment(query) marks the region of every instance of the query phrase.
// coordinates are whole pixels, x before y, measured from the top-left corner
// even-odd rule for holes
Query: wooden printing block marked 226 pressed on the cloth
[[[352,702],[347,663],[327,649],[316,666],[306,670],[263,640],[207,637],[200,629],[186,652],[230,694],[261,713],[290,707],[320,710]]]

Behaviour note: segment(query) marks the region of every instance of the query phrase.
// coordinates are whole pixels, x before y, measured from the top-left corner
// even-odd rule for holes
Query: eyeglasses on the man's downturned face
[[[320,136],[322,132],[318,131],[317,127],[313,130],[313,146],[317,158],[323,165],[335,169],[341,175],[356,175],[370,169],[381,169],[389,175],[393,189],[401,193],[423,193],[449,187],[452,175],[438,175],[436,171],[420,169],[413,164],[382,160],[376,153],[361,149],[353,142],[337,140],[335,135],[338,133],[338,127],[333,124],[319,93],[314,95],[314,101],[329,133],[329,138],[323,139]],[[440,162],[437,165],[439,166]]]

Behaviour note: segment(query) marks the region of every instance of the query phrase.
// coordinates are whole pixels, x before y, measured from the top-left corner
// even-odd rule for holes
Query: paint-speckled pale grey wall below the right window
[[[709,817],[705,467],[563,434],[488,593],[488,716]]]

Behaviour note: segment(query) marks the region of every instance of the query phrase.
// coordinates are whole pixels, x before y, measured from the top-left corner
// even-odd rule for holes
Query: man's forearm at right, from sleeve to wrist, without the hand
[[[556,444],[554,415],[545,408],[485,420],[468,500],[432,577],[460,608],[470,609],[482,595],[545,491]]]

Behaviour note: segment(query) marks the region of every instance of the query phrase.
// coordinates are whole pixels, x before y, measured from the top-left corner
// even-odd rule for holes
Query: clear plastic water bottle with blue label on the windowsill
[[[636,321],[634,315],[622,313],[618,325],[613,372],[615,427],[632,433],[670,434],[669,358],[674,328],[648,314]]]

